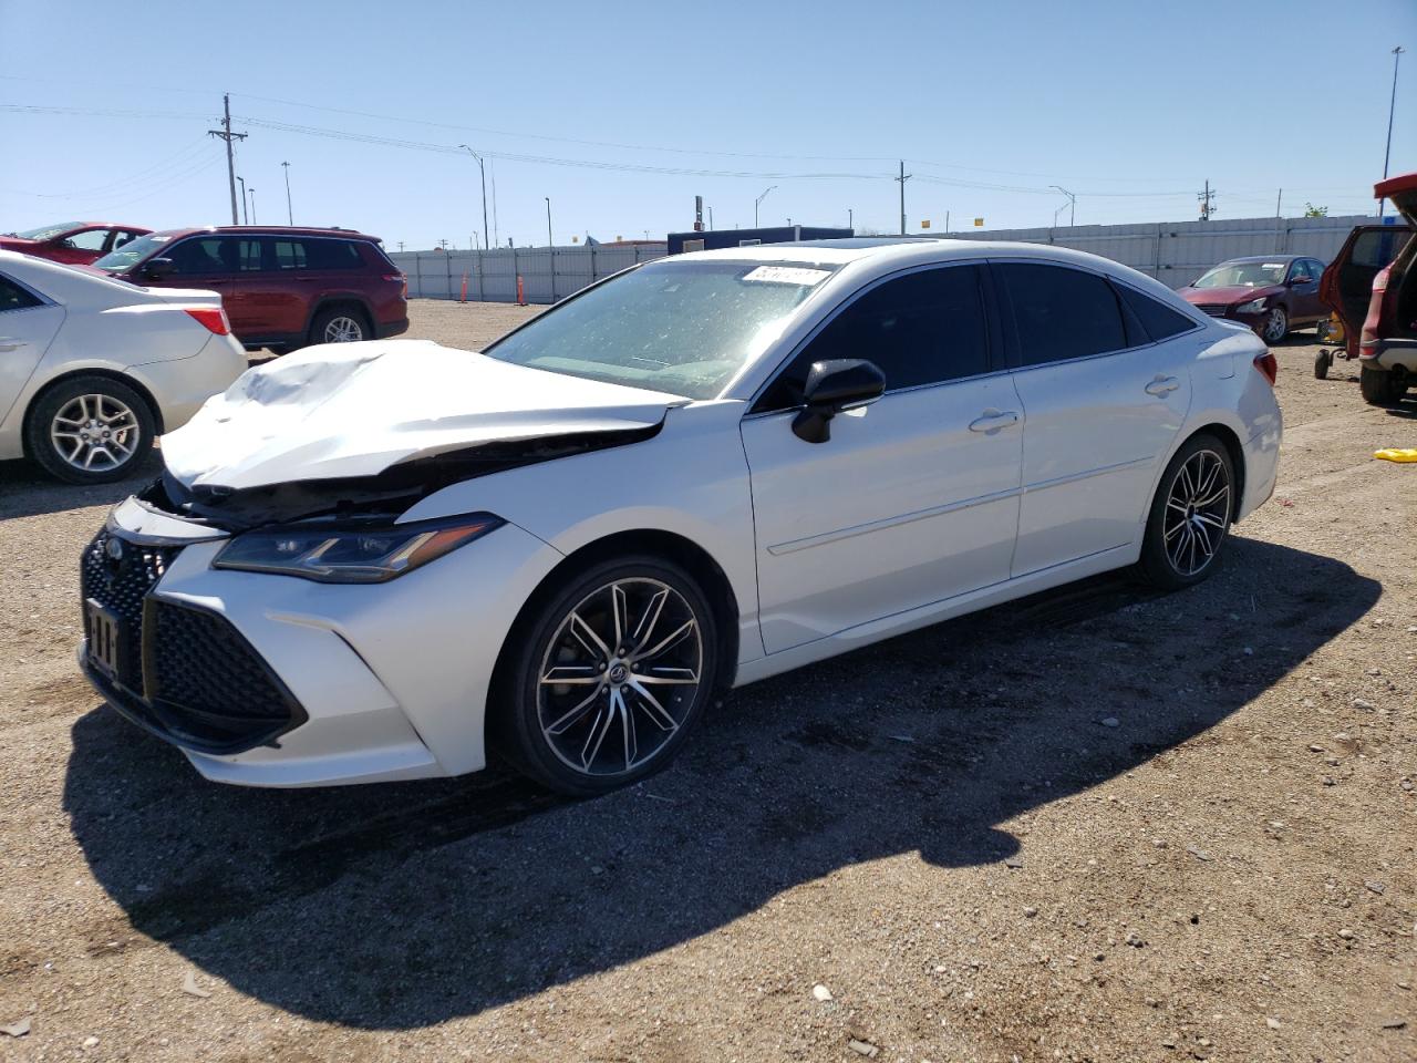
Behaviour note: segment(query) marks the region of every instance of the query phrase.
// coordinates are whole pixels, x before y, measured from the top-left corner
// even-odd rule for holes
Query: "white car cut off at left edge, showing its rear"
[[[215,292],[0,251],[0,459],[120,479],[245,369]]]

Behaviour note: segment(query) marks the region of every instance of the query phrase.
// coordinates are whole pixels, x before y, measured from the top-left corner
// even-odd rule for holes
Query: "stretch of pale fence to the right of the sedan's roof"
[[[1226,221],[1148,221],[1139,225],[1061,225],[1057,228],[969,230],[952,240],[1020,240],[1088,251],[1155,276],[1170,288],[1190,283],[1216,262],[1244,255],[1312,255],[1332,261],[1353,225],[1376,218],[1229,218]]]

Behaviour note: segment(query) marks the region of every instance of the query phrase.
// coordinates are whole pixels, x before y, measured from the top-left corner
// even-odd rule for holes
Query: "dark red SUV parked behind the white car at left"
[[[248,349],[384,339],[408,329],[404,275],[377,237],[340,228],[220,225],[152,232],[94,264],[147,288],[221,293]]]

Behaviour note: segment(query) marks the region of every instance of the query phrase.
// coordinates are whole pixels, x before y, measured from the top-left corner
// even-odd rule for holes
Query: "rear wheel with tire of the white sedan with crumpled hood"
[[[1200,489],[1206,488],[1212,469],[1217,469],[1217,475],[1224,476],[1224,502],[1223,505],[1214,502],[1190,507],[1185,516],[1178,516],[1178,509],[1168,503],[1175,500],[1178,492],[1182,496],[1186,493],[1186,482],[1179,480],[1182,471],[1185,469],[1187,476],[1193,476],[1197,466],[1202,482],[1196,486]],[[1226,536],[1238,505],[1236,486],[1236,471],[1230,451],[1216,437],[1195,435],[1176,451],[1176,455],[1166,465],[1166,472],[1162,473],[1161,483],[1156,485],[1156,496],[1152,499],[1151,512],[1146,516],[1146,534],[1142,540],[1141,557],[1141,571],[1146,583],[1175,591],[1200,583],[1219,567]],[[1219,490],[1217,480],[1213,489],[1206,489],[1199,497],[1209,499]],[[1200,524],[1195,523],[1197,517]],[[1180,529],[1178,529],[1178,523],[1182,526]],[[1190,534],[1197,544],[1196,550],[1187,554],[1185,547],[1187,540],[1178,540],[1178,534]],[[1197,560],[1197,553],[1203,553],[1203,546],[1212,546],[1209,558],[1199,567],[1192,567]],[[1180,549],[1179,560],[1176,557],[1178,547]]]

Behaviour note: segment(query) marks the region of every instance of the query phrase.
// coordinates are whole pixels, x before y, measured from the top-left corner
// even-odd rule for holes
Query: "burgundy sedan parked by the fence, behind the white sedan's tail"
[[[1278,343],[1289,329],[1328,317],[1319,298],[1323,264],[1305,255],[1231,258],[1207,269],[1176,295],[1212,317],[1229,317]]]

